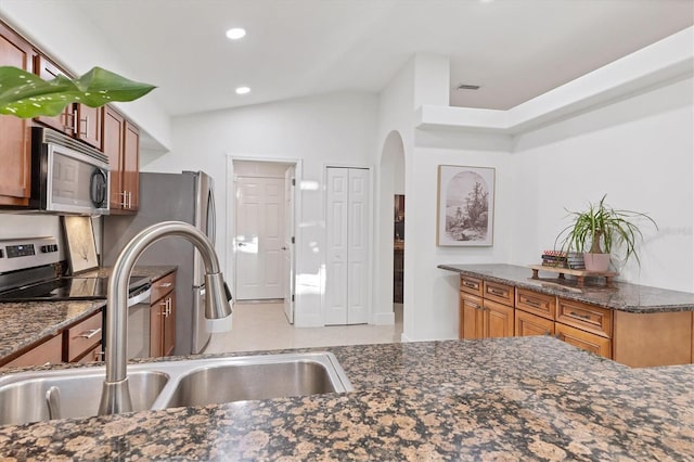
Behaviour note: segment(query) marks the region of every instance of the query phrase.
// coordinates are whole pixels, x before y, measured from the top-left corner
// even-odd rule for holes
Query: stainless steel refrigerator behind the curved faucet
[[[137,215],[110,215],[103,222],[103,265],[112,266],[138,232],[160,221],[184,221],[215,243],[213,179],[203,171],[140,174]],[[209,342],[205,318],[205,267],[193,244],[167,238],[144,251],[137,265],[177,265],[176,355],[197,354]]]

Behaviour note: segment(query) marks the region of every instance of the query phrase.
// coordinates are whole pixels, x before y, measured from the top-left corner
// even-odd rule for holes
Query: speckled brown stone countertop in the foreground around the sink
[[[693,460],[694,367],[552,337],[326,348],[355,392],[0,427],[7,459]]]

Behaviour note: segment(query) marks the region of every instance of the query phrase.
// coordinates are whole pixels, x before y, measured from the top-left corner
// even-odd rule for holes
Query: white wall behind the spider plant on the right
[[[694,82],[691,77],[515,140],[509,261],[528,265],[552,247],[569,210],[606,202],[648,213],[641,268],[631,261],[620,279],[694,291]]]

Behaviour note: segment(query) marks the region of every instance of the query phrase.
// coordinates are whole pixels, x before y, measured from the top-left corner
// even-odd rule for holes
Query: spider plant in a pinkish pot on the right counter
[[[608,206],[606,196],[603,195],[597,204],[589,203],[586,210],[567,210],[573,222],[558,233],[555,241],[555,247],[561,242],[562,252],[583,253],[588,271],[607,271],[611,255],[617,252],[624,252],[622,262],[633,257],[640,265],[637,243],[643,234],[634,221],[650,221],[658,229],[655,220],[644,213]]]

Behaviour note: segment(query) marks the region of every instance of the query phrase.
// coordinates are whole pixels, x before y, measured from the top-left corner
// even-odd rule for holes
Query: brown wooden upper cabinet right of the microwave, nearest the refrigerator
[[[134,213],[140,190],[140,131],[113,107],[104,106],[102,114],[102,151],[111,165],[111,213]]]

